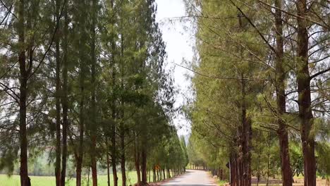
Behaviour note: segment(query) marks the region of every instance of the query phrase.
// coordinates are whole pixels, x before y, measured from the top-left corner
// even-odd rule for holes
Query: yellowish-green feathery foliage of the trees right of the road
[[[296,80],[308,76],[298,73],[302,68],[302,59],[297,58],[299,52],[296,51],[299,39],[295,34],[283,37],[283,56],[280,58],[276,16],[274,10],[264,7],[274,6],[274,2],[185,3],[195,23],[196,38],[195,61],[190,66],[195,72],[192,77],[195,97],[185,106],[187,118],[192,123],[188,144],[190,164],[206,163],[211,168],[224,168],[229,160],[234,159],[243,161],[243,166],[251,166],[252,176],[269,178],[281,175],[279,142],[284,139],[281,125],[285,125],[291,167],[295,175],[301,175],[304,168],[301,132],[312,126],[308,137],[317,144],[317,173],[329,174],[326,160],[329,154],[325,155],[329,147],[329,94],[325,93],[329,89],[329,63],[325,63],[329,61],[312,57],[329,55],[329,49],[323,47],[323,39],[329,38],[329,30],[319,34],[317,30],[323,28],[317,24],[307,29],[308,35],[315,35],[315,40],[309,41],[307,70],[310,75],[320,72],[320,76],[310,79],[313,90],[308,95],[312,99],[309,109],[314,118],[312,124],[307,124],[302,123],[306,113],[301,113],[301,105],[298,106],[297,102],[297,92],[301,94],[303,91],[297,89]],[[294,3],[283,4],[286,12],[296,13],[295,8]],[[322,9],[319,5],[314,8]],[[318,13],[325,16],[322,11]],[[297,27],[296,18],[288,17],[281,21],[283,35],[291,32],[292,26]],[[312,49],[314,47],[320,50]],[[279,60],[283,66],[280,70]],[[279,80],[281,75],[283,80]],[[277,93],[282,85],[284,109]],[[307,127],[304,129],[302,125]]]

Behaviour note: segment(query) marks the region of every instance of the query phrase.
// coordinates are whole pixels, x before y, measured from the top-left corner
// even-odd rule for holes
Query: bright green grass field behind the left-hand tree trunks
[[[54,176],[30,176],[32,186],[55,186],[55,177]],[[92,178],[90,178],[92,179]],[[98,185],[106,186],[107,185],[107,176],[98,175]],[[82,185],[87,185],[87,177],[82,178]],[[92,180],[90,180],[90,183]],[[137,182],[137,175],[135,171],[127,173],[127,183],[128,185],[133,185]],[[68,186],[75,185],[75,178],[67,180]],[[110,177],[110,184],[113,185],[112,175]],[[90,184],[92,185],[92,184]],[[121,173],[118,173],[118,185],[121,185]],[[20,186],[20,176],[12,175],[0,175],[0,186]]]

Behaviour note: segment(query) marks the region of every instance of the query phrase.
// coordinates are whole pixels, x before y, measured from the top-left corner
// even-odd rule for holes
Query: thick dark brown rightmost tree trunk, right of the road
[[[302,154],[304,156],[304,181],[305,186],[316,185],[316,160],[313,128],[313,115],[310,95],[310,70],[308,69],[308,23],[307,1],[298,0],[298,105],[300,118],[300,131],[302,140]]]

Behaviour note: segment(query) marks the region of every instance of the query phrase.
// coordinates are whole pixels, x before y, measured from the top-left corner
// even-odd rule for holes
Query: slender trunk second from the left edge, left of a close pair
[[[56,23],[59,22],[60,1],[56,0]],[[55,24],[56,24],[55,23]],[[59,32],[55,36],[55,58],[56,58],[56,160],[55,160],[55,178],[56,186],[61,185],[61,59],[60,59],[60,44]]]

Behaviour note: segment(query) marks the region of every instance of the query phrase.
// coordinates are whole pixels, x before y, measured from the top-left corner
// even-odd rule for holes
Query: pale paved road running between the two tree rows
[[[214,180],[210,178],[206,171],[187,170],[184,175],[178,176],[173,180],[163,182],[160,185],[166,186],[215,186]]]

